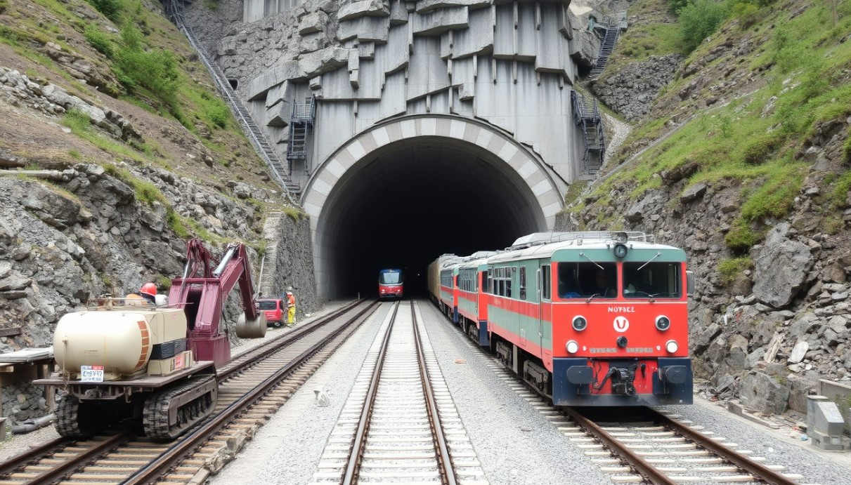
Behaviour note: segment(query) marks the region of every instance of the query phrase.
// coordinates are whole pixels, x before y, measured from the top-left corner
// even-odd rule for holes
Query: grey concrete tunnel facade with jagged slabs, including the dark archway
[[[251,29],[222,37],[217,63],[282,159],[294,105],[316,103],[288,176],[311,218],[320,296],[374,292],[378,269],[394,266],[416,286],[443,252],[553,227],[585,174],[571,86],[587,29],[571,8],[244,2]],[[260,48],[282,38],[287,52]]]

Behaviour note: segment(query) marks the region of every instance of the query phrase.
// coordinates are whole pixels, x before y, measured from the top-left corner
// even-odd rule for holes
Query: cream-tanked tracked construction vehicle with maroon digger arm
[[[131,298],[97,298],[63,316],[54,332],[57,370],[34,381],[65,395],[56,409],[64,437],[88,437],[121,420],[140,420],[147,437],[169,440],[210,415],[218,395],[216,367],[231,359],[221,313],[237,283],[244,313],[237,336],[266,335],[242,244],[231,244],[218,267],[199,240],[187,245],[182,278],[172,280],[168,306]]]

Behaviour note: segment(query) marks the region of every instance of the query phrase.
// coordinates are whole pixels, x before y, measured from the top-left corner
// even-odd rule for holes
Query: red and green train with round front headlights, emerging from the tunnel
[[[682,249],[642,233],[539,233],[437,268],[444,313],[554,404],[692,403]]]

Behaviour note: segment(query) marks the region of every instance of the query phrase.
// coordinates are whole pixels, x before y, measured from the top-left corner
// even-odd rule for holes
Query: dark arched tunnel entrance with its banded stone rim
[[[504,134],[485,137],[487,148],[470,137],[428,135],[420,121],[408,133],[414,136],[375,136],[372,141],[386,141],[381,146],[362,139],[350,156],[338,152],[311,179],[309,189],[327,192],[306,194],[305,203],[321,295],[373,295],[381,268],[403,268],[406,293],[425,293],[426,267],[437,256],[502,249],[551,227],[561,204],[545,210],[541,195],[552,195],[554,184],[528,166],[519,145],[505,149]],[[517,156],[511,164],[500,153]],[[321,209],[311,200],[321,200]]]

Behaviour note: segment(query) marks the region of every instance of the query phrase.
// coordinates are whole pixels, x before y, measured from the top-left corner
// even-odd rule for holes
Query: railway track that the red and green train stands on
[[[438,314],[437,310],[434,312]],[[446,321],[441,316],[442,321]],[[751,456],[749,450],[737,450],[736,443],[726,443],[702,426],[691,426],[677,415],[665,415],[652,408],[629,409],[630,420],[598,424],[591,415],[600,409],[553,406],[534,391],[527,382],[505,369],[500,361],[468,342],[492,359],[488,364],[506,381],[514,379],[511,389],[526,399],[553,426],[584,450],[594,463],[609,474],[613,482],[641,482],[654,485],[682,483],[757,482],[772,485],[798,485],[801,475],[783,473],[782,465],[765,465],[763,457]],[[624,409],[624,408],[621,408]],[[626,413],[625,413],[626,414]],[[726,443],[726,444],[725,444]]]

